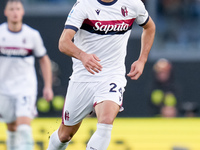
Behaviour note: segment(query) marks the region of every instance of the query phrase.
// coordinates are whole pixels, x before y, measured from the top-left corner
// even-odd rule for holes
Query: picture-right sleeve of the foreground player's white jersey
[[[149,14],[141,0],[135,0],[137,2],[137,17],[135,19],[136,23],[140,26],[145,25],[149,20]]]

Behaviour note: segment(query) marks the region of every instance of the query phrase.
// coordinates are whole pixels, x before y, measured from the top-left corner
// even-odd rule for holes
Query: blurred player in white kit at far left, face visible
[[[37,114],[34,57],[39,58],[43,97],[53,98],[51,63],[39,32],[22,23],[20,0],[8,0],[0,24],[0,120],[7,124],[7,150],[33,150],[31,120]]]

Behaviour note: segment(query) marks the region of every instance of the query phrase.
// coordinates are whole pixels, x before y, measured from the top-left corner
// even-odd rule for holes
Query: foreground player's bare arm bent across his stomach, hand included
[[[59,40],[59,50],[70,56],[79,59],[84,67],[91,74],[99,73],[102,66],[100,65],[100,59],[95,54],[87,54],[80,50],[73,42],[72,39],[75,35],[75,31],[71,29],[64,29]]]

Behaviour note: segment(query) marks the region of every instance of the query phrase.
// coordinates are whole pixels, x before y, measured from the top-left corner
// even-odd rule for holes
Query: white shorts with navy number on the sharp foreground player
[[[120,111],[122,111],[125,86],[126,79],[118,76],[100,82],[69,81],[62,123],[67,126],[76,125],[94,111],[96,104],[105,100],[117,103],[121,106]]]

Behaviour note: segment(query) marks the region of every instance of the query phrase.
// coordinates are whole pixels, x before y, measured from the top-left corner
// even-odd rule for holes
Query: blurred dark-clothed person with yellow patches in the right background
[[[153,66],[153,73],[150,102],[154,116],[176,117],[178,88],[171,62],[165,58],[159,59]]]

